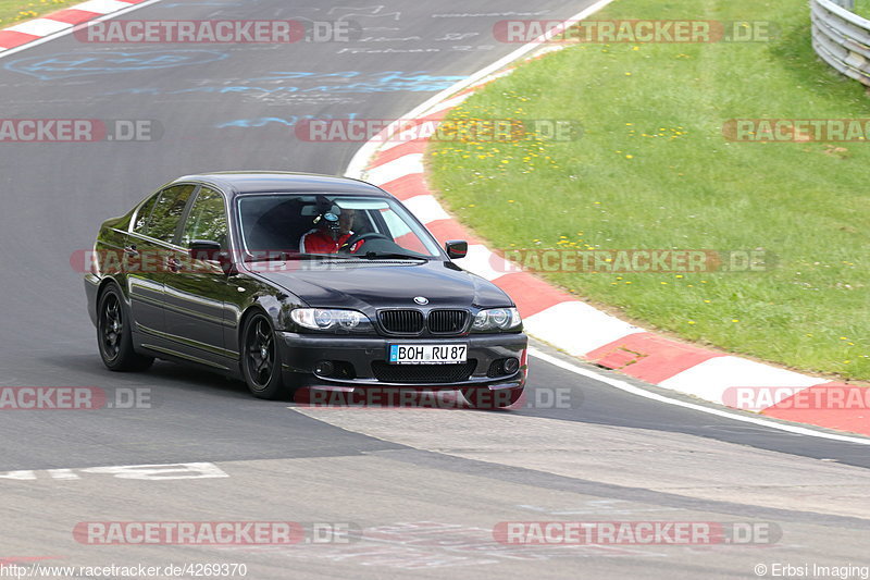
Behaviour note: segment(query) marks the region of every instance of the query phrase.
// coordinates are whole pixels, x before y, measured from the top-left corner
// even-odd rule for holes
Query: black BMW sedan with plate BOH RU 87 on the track
[[[103,222],[85,275],[100,356],[154,358],[245,380],[261,398],[299,387],[459,390],[515,403],[526,336],[510,297],[453,263],[386,192],[278,172],[189,175]]]

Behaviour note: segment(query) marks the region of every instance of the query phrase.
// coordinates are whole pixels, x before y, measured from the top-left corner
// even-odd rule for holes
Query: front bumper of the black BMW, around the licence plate
[[[470,334],[460,337],[387,338],[384,336],[314,335],[291,332],[276,333],[283,371],[290,384],[313,388],[339,390],[402,387],[426,391],[487,387],[489,390],[522,388],[526,375],[529,338],[522,333]],[[386,365],[390,344],[467,344],[468,377],[452,372],[453,365],[424,366]],[[515,358],[520,369],[511,374],[497,372],[500,360]],[[318,362],[334,363],[333,375],[314,372]],[[385,368],[391,367],[391,368]],[[401,368],[397,368],[401,367]],[[496,369],[496,372],[494,371]],[[457,369],[458,370],[458,369]],[[426,377],[432,371],[440,377]],[[401,375],[413,375],[412,381]],[[449,377],[453,374],[453,377]],[[456,374],[462,375],[456,380]]]

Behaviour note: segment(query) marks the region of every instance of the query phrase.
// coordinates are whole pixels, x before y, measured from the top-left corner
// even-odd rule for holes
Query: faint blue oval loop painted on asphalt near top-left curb
[[[173,69],[226,59],[226,52],[212,50],[150,50],[136,52],[61,52],[48,57],[28,57],[5,63],[4,69],[36,76],[42,81],[92,74],[126,73]]]

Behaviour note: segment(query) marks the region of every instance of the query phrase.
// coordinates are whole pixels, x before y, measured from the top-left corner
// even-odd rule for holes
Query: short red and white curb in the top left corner
[[[0,54],[67,34],[79,24],[116,15],[152,0],[88,0],[72,8],[0,29]]]

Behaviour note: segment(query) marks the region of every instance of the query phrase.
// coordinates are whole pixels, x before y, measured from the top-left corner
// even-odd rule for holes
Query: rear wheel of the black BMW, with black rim
[[[152,357],[139,355],[133,348],[133,317],[116,285],[111,284],[100,295],[97,312],[97,343],[105,368],[117,372],[144,371],[153,365]]]

